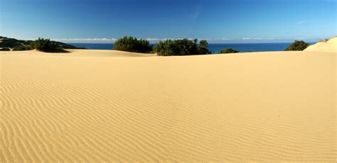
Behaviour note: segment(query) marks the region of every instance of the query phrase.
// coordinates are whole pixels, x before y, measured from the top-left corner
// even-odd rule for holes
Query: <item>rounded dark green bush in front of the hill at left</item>
[[[58,43],[44,38],[38,38],[38,40],[33,41],[31,47],[43,52],[62,50],[62,47]]]

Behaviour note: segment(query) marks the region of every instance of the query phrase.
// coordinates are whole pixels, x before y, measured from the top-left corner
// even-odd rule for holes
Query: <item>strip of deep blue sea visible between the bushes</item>
[[[112,43],[68,43],[76,47],[86,47],[92,50],[113,50],[114,44]],[[314,44],[314,43],[310,43]],[[220,52],[226,48],[233,48],[240,52],[269,52],[269,51],[283,51],[291,43],[218,43],[208,44],[208,50],[213,53]]]

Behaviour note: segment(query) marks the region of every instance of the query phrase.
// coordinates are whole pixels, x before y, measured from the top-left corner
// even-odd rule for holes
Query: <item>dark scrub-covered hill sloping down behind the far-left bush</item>
[[[0,50],[13,50],[17,47],[26,47],[26,50],[30,49],[33,40],[16,40],[15,38],[6,38],[0,36]],[[63,49],[86,49],[85,47],[75,47],[73,45],[68,45],[65,43],[60,43],[57,41],[52,41],[60,45]]]

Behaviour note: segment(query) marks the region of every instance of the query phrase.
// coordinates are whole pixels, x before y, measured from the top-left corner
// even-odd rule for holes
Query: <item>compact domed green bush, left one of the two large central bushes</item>
[[[124,36],[119,38],[114,43],[114,50],[121,50],[126,52],[151,52],[152,46],[148,40],[133,38],[131,36]]]

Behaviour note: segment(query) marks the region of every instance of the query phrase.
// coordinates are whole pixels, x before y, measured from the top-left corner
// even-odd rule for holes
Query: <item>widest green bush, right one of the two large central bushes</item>
[[[211,54],[211,52],[207,49],[208,43],[206,40],[201,40],[200,45],[197,45],[197,43],[197,39],[160,41],[159,44],[154,47],[154,52],[161,56]]]

